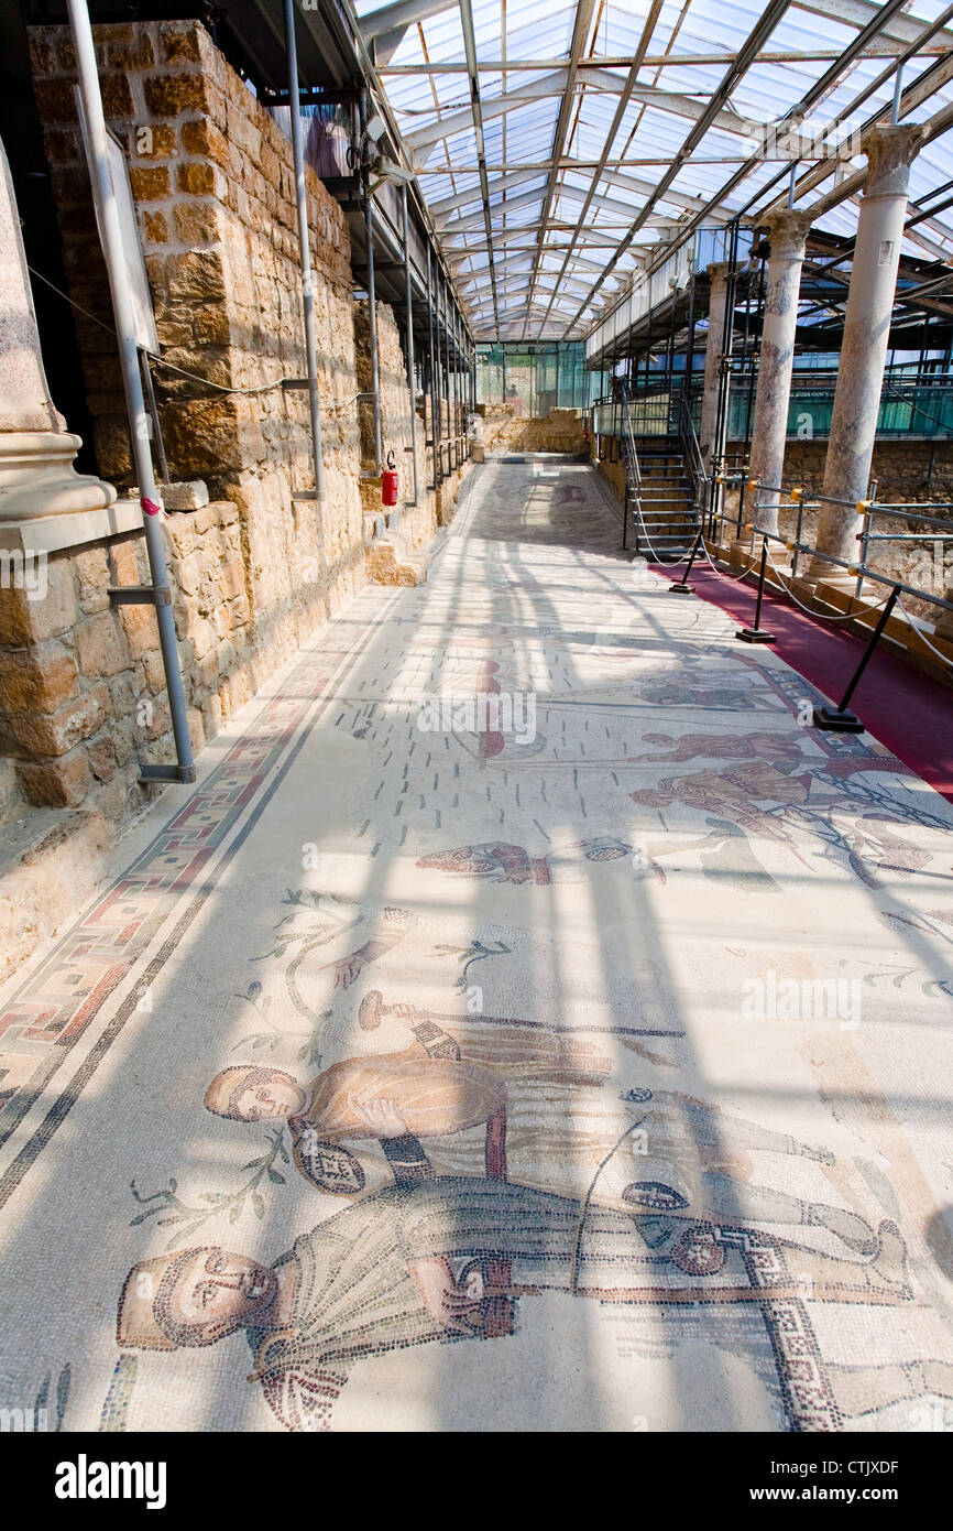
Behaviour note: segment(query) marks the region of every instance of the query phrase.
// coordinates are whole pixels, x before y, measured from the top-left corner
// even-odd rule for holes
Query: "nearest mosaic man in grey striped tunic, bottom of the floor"
[[[647,1242],[638,1213],[529,1187],[460,1177],[392,1187],[318,1223],[274,1266],[219,1246],[141,1262],[122,1289],[118,1341],[122,1349],[174,1350],[245,1329],[251,1381],[289,1430],[315,1430],[330,1427],[333,1401],[358,1360],[433,1341],[500,1338],[511,1332],[519,1301],[546,1291],[603,1303],[757,1298],[779,1344],[789,1298],[808,1272],[821,1301],[912,1298],[892,1223],[881,1223],[877,1255],[864,1268],[832,1263],[818,1281],[814,1266],[799,1268],[797,1249],[719,1234],[694,1219],[668,1222],[665,1239],[653,1223]],[[772,1298],[788,1298],[777,1314]],[[799,1323],[806,1327],[803,1311]],[[826,1396],[815,1341],[802,1353],[805,1372],[811,1387],[799,1396],[799,1370],[779,1366],[794,1390],[791,1407],[829,1418],[837,1405]]]

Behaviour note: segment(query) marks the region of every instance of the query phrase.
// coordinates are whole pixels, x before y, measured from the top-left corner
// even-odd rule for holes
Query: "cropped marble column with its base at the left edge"
[[[49,395],[3,144],[0,294],[0,524],[112,505],[112,484],[75,472],[73,458],[83,442],[66,429]]]

